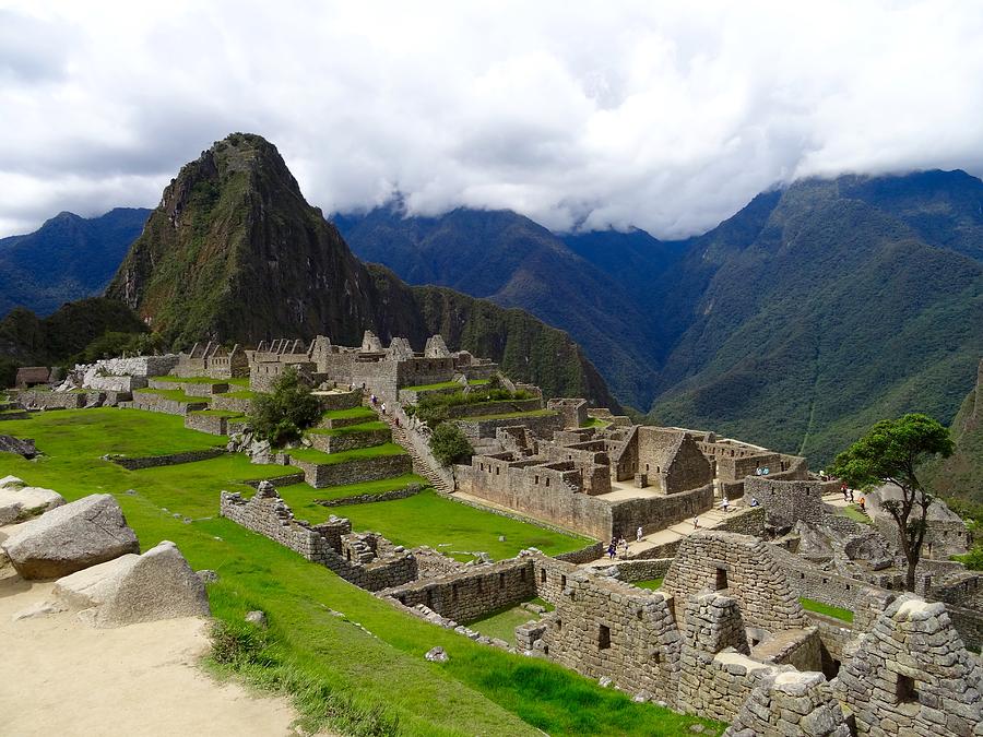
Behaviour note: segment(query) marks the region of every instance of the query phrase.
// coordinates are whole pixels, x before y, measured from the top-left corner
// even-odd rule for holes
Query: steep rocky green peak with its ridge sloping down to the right
[[[619,408],[566,333],[450,289],[407,287],[359,262],[258,135],[234,133],[181,168],[106,296],[175,346],[317,334],[353,345],[372,330],[422,348],[440,332],[452,348],[493,358],[550,396]]]

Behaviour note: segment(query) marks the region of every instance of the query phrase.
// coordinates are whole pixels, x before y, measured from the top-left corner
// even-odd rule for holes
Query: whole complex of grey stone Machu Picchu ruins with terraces
[[[245,453],[250,466],[276,472],[247,482],[246,492],[217,494],[222,518],[405,615],[555,662],[637,702],[729,724],[729,735],[983,735],[974,654],[983,574],[949,559],[971,537],[941,501],[928,515],[915,591],[904,592],[885,511],[897,489],[868,490],[857,521],[844,512],[845,487],[805,457],[544,397],[439,335],[421,347],[400,337],[386,346],[368,331],[355,347],[327,336],[196,345],[76,366],[8,402],[26,416],[143,409],[228,437],[227,448],[109,460],[177,468]],[[274,448],[254,436],[250,412],[286,375],[316,397],[321,419]],[[471,443],[465,462],[436,460],[429,439],[440,423]],[[399,478],[419,480],[315,496],[308,509],[323,507],[322,521],[300,519],[289,501],[297,485],[330,495]],[[583,544],[462,560],[356,530],[343,515],[428,485],[452,503]],[[639,583],[648,581],[661,585]],[[473,629],[504,610],[529,615],[509,640]]]

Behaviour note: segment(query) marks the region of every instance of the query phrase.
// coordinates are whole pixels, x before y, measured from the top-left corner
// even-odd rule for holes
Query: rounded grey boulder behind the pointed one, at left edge
[[[45,512],[0,547],[25,579],[58,579],[140,550],[137,535],[108,494],[94,494]]]

